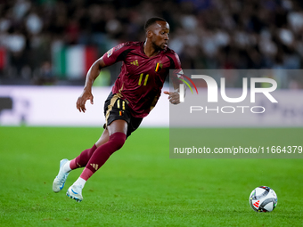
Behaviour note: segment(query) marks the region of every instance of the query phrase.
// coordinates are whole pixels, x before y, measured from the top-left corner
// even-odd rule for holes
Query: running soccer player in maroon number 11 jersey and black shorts
[[[121,71],[104,104],[106,123],[100,139],[91,149],[84,150],[77,158],[62,159],[59,174],[53,180],[53,191],[62,190],[70,171],[85,167],[74,182],[67,196],[82,201],[86,181],[119,150],[127,137],[140,126],[144,117],[157,103],[169,69],[180,72],[177,54],[168,48],[168,22],[151,18],[145,23],[145,42],[127,42],[113,47],[94,62],[86,75],[83,93],[78,97],[77,109],[86,112],[86,101],[93,104],[92,85],[100,70],[122,61]],[[177,91],[180,80],[173,77],[175,92],[164,92],[173,104],[179,103]],[[182,82],[181,82],[182,83]]]

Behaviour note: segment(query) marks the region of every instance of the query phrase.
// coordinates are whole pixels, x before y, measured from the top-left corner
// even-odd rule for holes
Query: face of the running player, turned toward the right
[[[168,47],[169,25],[165,21],[157,21],[151,29],[151,43],[155,49],[164,50]]]

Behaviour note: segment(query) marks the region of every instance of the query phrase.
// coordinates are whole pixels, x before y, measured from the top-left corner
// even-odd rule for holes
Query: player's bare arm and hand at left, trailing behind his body
[[[77,101],[77,109],[81,112],[86,112],[86,101],[90,100],[91,104],[94,104],[94,96],[92,93],[92,86],[94,84],[94,80],[99,76],[100,70],[104,68],[106,65],[102,58],[94,61],[94,64],[88,70],[86,74],[86,85],[84,86],[83,92],[78,97]]]

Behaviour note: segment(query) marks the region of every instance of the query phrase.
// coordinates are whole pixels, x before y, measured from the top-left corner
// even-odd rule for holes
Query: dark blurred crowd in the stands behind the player
[[[299,0],[0,0],[0,85],[60,84],[54,44],[94,46],[102,56],[143,41],[152,16],[168,20],[168,45],[184,69],[302,68]]]

